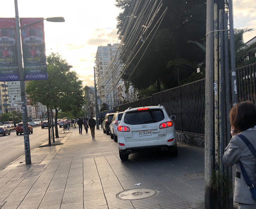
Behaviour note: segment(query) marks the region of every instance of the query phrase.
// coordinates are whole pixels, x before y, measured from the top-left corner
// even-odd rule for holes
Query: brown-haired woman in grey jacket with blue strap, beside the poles
[[[237,103],[230,110],[229,120],[232,138],[225,148],[223,163],[236,164],[234,202],[238,209],[256,209],[256,197],[251,194],[255,185],[256,106],[249,101]]]

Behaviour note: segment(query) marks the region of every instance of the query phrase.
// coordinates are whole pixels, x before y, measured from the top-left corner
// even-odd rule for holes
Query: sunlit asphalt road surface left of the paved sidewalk
[[[30,150],[39,147],[48,140],[48,129],[33,127],[33,133],[29,135]],[[12,131],[10,135],[0,135],[0,171],[12,161],[24,155],[24,136],[16,135]]]

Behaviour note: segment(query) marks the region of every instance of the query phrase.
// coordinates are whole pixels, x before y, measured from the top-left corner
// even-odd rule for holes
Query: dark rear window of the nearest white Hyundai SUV
[[[164,119],[163,111],[160,109],[149,109],[146,111],[131,111],[124,115],[123,122],[130,125],[157,123]]]

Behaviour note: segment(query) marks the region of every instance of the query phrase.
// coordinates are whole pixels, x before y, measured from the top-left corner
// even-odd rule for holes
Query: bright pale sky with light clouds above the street
[[[46,55],[58,52],[75,70],[83,86],[93,86],[97,46],[117,41],[115,0],[18,0],[19,17],[63,16],[65,22],[44,21]],[[4,6],[3,6],[4,5]],[[256,36],[256,0],[233,0],[234,28],[255,28],[244,41]],[[0,17],[15,17],[14,0],[5,0]]]

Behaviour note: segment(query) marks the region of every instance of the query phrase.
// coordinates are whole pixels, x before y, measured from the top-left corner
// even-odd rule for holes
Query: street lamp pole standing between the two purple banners
[[[20,25],[18,17],[18,3],[14,0],[15,5],[15,21],[16,21],[16,34],[17,34],[17,55],[18,55],[18,68],[20,79],[20,94],[21,94],[21,107],[22,107],[22,121],[23,121],[23,133],[24,133],[24,148],[25,148],[25,163],[31,164],[30,144],[29,144],[29,132],[27,126],[27,112],[26,112],[26,93],[25,93],[25,81],[24,71],[22,65],[22,53],[21,53],[21,41],[20,41]]]

